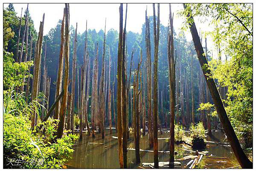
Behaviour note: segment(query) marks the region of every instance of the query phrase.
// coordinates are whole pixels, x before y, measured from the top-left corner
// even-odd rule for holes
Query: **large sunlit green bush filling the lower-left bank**
[[[67,131],[64,131],[61,139],[52,141],[55,138],[56,125],[54,122],[56,120],[44,122],[42,128],[44,134],[41,132],[35,134],[36,130],[31,128],[29,117],[33,112],[32,107],[37,107],[35,106],[36,102],[26,103],[25,99],[22,100],[22,95],[23,93],[16,93],[13,89],[4,93],[6,111],[3,114],[3,167],[61,168],[71,158],[74,151],[72,146],[79,137],[72,134],[67,135]],[[36,109],[36,112],[38,111]]]

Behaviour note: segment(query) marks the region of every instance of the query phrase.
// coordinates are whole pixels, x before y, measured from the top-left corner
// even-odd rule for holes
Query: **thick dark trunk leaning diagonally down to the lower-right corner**
[[[186,9],[186,5],[183,4],[184,9]],[[242,168],[253,168],[253,163],[247,158],[247,156],[244,154],[243,149],[241,148],[241,145],[239,143],[239,140],[236,136],[236,133],[233,129],[233,126],[230,123],[230,120],[227,116],[227,112],[224,108],[223,102],[221,100],[221,96],[218,92],[217,86],[215,84],[215,81],[212,78],[210,69],[205,68],[204,66],[208,66],[208,62],[206,60],[204,49],[200,43],[200,39],[198,37],[198,32],[195,26],[195,22],[193,20],[193,17],[188,14],[186,16],[189,21],[192,21],[189,23],[189,29],[192,34],[192,39],[195,45],[195,50],[198,55],[198,60],[201,65],[201,69],[204,73],[204,77],[207,82],[207,86],[211,92],[213,102],[215,104],[215,108],[217,110],[218,116],[221,120],[221,123],[223,125],[223,128],[225,130],[225,133],[227,135],[227,139],[230,141],[230,145],[233,149],[233,152],[237,158],[237,161],[241,165]]]

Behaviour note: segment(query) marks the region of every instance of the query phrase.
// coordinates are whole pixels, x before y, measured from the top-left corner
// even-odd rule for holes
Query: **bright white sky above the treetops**
[[[4,3],[3,7],[8,7],[8,3]],[[23,14],[27,7],[26,3],[14,3],[13,4],[17,16],[20,16],[21,8],[23,8]],[[119,3],[70,3],[70,25],[76,26],[78,23],[78,32],[83,33],[86,29],[86,20],[88,29],[96,29],[99,32],[100,29],[104,29],[105,17],[107,20],[106,31],[113,28],[119,31]],[[123,5],[123,13],[125,18],[125,6]],[[29,12],[32,20],[34,21],[35,29],[39,30],[40,21],[45,13],[44,22],[44,35],[46,35],[51,28],[54,28],[58,20],[63,17],[64,3],[29,3]],[[128,3],[127,10],[127,31],[142,32],[142,25],[145,23],[145,10],[148,9],[148,15],[153,15],[152,4],[146,3]],[[157,4],[155,6],[157,14]],[[175,32],[178,33],[182,27],[184,21],[183,17],[178,16],[177,12],[182,10],[183,6],[180,3],[172,4],[172,12],[174,12],[173,26]],[[169,4],[160,3],[160,23],[164,26],[168,25],[169,20]],[[209,27],[208,23],[200,23],[195,17],[195,24],[199,29],[203,31],[211,31],[212,27]],[[189,30],[185,32],[186,39],[192,40],[192,36]],[[203,41],[204,42],[204,41]],[[203,43],[204,46],[204,43]],[[207,37],[207,48],[211,50],[213,48],[211,37]],[[213,48],[215,53],[215,48]]]

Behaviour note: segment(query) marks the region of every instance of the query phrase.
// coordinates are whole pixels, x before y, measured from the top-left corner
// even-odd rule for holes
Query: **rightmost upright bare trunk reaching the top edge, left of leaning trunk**
[[[170,89],[170,160],[174,162],[174,118],[175,118],[175,66],[173,44],[173,14],[169,3],[169,34],[168,34],[168,63],[169,63],[169,89]]]

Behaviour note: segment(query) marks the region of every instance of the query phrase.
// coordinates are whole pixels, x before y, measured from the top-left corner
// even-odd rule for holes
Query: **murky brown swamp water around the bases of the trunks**
[[[67,163],[68,168],[82,168],[82,169],[93,169],[93,168],[102,168],[102,169],[116,169],[119,168],[119,158],[118,158],[118,141],[116,138],[111,138],[111,136],[116,136],[116,130],[113,130],[113,134],[109,135],[108,129],[105,130],[105,139],[101,139],[101,135],[97,134],[96,138],[84,136],[82,140],[79,140],[74,147],[75,152],[73,153],[72,159]],[[85,134],[85,133],[84,133]],[[186,135],[188,133],[186,132]],[[161,135],[158,132],[158,138],[167,138],[169,133],[163,132]],[[212,132],[212,137],[207,136],[207,141],[214,142],[227,142],[224,141],[223,132]],[[103,144],[95,144],[103,143]],[[235,156],[233,155],[232,149],[229,146],[216,146],[215,143],[207,143],[207,146],[204,150],[199,151],[209,151],[206,156],[215,155],[217,157],[225,157],[226,159],[219,158],[207,158],[203,156],[202,161],[198,164],[196,168],[228,168],[235,166],[233,162],[237,162]],[[133,135],[130,134],[130,139],[128,140],[128,148],[134,148]],[[144,150],[153,150],[148,147],[148,135],[145,135],[140,138],[140,149]],[[175,155],[175,159],[182,158],[187,155],[192,155],[191,152],[188,152],[183,149],[185,148],[182,144],[175,145],[175,151],[178,152]],[[169,142],[165,139],[158,140],[158,150],[159,151],[169,151]],[[190,150],[192,150],[190,148]],[[159,153],[159,161],[169,161],[168,153]],[[138,166],[143,166],[142,163],[152,163],[154,162],[153,152],[140,151],[141,163],[136,165],[135,162],[135,151],[128,150],[128,168],[138,168]],[[175,168],[183,168],[186,163],[191,159],[178,161],[181,163],[181,166]],[[221,162],[217,162],[221,161]],[[166,167],[160,167],[166,168]],[[187,167],[188,168],[188,167]]]

